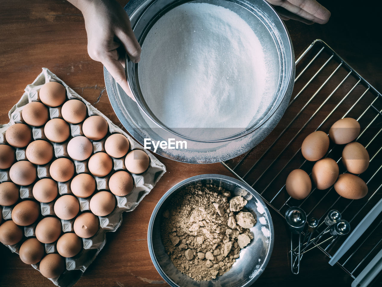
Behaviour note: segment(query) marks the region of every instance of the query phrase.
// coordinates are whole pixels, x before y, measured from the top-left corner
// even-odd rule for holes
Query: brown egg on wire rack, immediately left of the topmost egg
[[[306,160],[316,161],[324,157],[329,148],[329,137],[320,130],[312,132],[303,141],[301,152]]]

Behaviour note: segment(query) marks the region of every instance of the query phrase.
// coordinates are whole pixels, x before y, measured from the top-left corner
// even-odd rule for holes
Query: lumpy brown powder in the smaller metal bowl
[[[189,186],[163,212],[162,239],[172,263],[197,281],[215,279],[231,269],[256,223],[243,210],[247,201],[217,186]],[[242,226],[240,226],[242,225]]]

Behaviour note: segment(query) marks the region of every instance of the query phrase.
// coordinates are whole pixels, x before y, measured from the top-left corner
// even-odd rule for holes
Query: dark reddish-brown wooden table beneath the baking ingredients
[[[121,4],[123,1],[120,1]],[[332,11],[326,25],[311,26],[287,21],[296,56],[314,39],[321,38],[350,65],[382,90],[380,39],[374,40],[379,7],[359,7],[359,2],[322,1]],[[342,4],[342,5],[341,5]],[[68,2],[3,0],[0,11],[0,122],[8,122],[8,111],[23,90],[41,72],[49,68],[81,96],[109,117],[120,122],[107,97],[102,64],[87,55],[86,32],[81,13]],[[377,26],[378,25],[378,26]],[[380,32],[378,32],[380,34]],[[167,173],[139,206],[123,216],[115,233],[107,233],[107,244],[76,286],[167,286],[155,270],[147,249],[147,226],[160,197],[174,184],[197,174],[231,175],[220,163],[190,165],[158,156]],[[256,286],[343,286],[351,278],[338,266],[330,267],[319,251],[304,258],[300,274],[293,276],[288,265],[289,235],[284,220],[272,210],[275,246],[270,262]],[[17,254],[0,245],[1,286],[52,286]]]

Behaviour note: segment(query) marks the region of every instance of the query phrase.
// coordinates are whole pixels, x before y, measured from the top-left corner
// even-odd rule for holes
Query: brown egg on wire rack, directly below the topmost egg
[[[361,143],[351,142],[343,148],[342,163],[349,172],[363,173],[369,167],[369,162],[369,153]]]

